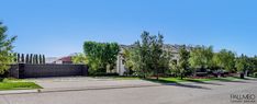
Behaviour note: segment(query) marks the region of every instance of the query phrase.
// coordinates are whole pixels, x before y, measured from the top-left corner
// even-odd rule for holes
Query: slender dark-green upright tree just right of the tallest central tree
[[[179,69],[181,79],[183,79],[186,72],[189,71],[189,58],[190,53],[187,50],[186,45],[181,46],[179,49]]]

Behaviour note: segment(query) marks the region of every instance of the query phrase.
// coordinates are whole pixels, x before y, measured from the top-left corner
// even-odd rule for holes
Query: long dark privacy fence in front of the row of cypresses
[[[45,77],[69,77],[88,76],[86,65],[12,65],[9,76],[18,79],[24,78],[45,78]]]

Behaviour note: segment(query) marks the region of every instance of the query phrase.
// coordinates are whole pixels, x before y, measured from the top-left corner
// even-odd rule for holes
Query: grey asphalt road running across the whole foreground
[[[232,94],[250,94],[255,102],[235,103]],[[9,94],[0,95],[0,104],[257,104],[257,81]]]

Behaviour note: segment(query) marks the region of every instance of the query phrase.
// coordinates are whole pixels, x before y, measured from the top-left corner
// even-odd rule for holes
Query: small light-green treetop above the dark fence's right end
[[[71,57],[74,63],[88,63],[88,59],[85,54],[76,54],[76,56]]]

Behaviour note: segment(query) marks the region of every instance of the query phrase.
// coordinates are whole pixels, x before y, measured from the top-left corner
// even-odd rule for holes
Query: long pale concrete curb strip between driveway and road
[[[147,88],[160,86],[164,84],[139,84],[139,85],[107,85],[107,86],[85,86],[85,88],[59,88],[59,89],[37,89],[37,90],[13,90],[0,91],[0,95],[10,94],[30,94],[30,93],[51,93],[51,92],[69,92],[69,91],[90,91],[90,90],[111,90],[111,89],[130,89],[130,88]]]

